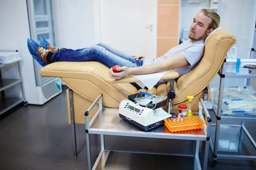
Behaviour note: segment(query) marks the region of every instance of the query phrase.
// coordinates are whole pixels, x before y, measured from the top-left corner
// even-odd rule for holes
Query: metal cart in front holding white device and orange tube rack
[[[70,98],[70,111],[71,111],[71,124],[73,134],[75,134],[75,122],[74,122],[74,112],[73,112],[73,91],[69,90],[69,98]],[[97,105],[99,102],[99,110],[95,113],[95,115],[91,115],[92,109]],[[172,113],[172,115],[177,113]],[[109,169],[113,164],[111,164],[111,155],[115,153],[121,153],[122,156],[138,156],[143,154],[143,152],[129,152],[129,151],[112,151],[112,150],[105,150],[105,141],[104,135],[113,135],[113,136],[133,136],[133,137],[144,137],[144,138],[157,138],[157,139],[181,139],[181,140],[194,140],[196,141],[196,148],[195,148],[195,155],[175,155],[175,159],[177,156],[180,156],[179,166],[182,167],[184,165],[191,165],[191,169],[196,170],[207,170],[207,159],[208,159],[208,152],[209,152],[209,138],[210,138],[210,129],[211,129],[211,118],[209,116],[206,104],[203,99],[199,102],[199,113],[193,113],[195,116],[199,116],[202,120],[204,120],[204,128],[198,130],[195,133],[194,130],[187,131],[186,133],[170,133],[168,130],[166,131],[165,126],[156,127],[151,129],[147,132],[140,130],[139,128],[131,125],[130,123],[122,120],[119,117],[118,109],[111,109],[111,108],[102,108],[102,94],[100,94],[96,100],[92,103],[90,108],[85,112],[85,132],[86,132],[86,144],[87,144],[87,159],[88,159],[88,170],[99,170],[99,169]],[[90,118],[89,118],[90,117]],[[89,121],[90,119],[90,121]],[[97,159],[93,160],[95,156],[92,156],[92,143],[90,141],[90,135],[96,134],[100,136],[100,146],[99,146],[99,154],[97,155]],[[200,160],[199,160],[199,150],[200,142],[205,141],[205,147],[203,155],[204,155],[204,162],[203,168],[201,168]],[[76,157],[76,136],[73,136],[73,152],[74,156]],[[129,155],[131,154],[131,155]],[[148,153],[144,153],[148,154]],[[154,156],[163,156],[159,153],[152,153]],[[164,154],[165,156],[171,156],[171,154]],[[156,158],[154,157],[154,158]],[[155,160],[155,159],[154,159]],[[169,159],[170,160],[170,159]],[[186,161],[184,161],[186,160]],[[186,163],[185,163],[186,162]],[[122,169],[128,166],[127,164],[115,164],[115,169]],[[172,167],[172,165],[169,165]],[[126,169],[129,167],[126,167]]]

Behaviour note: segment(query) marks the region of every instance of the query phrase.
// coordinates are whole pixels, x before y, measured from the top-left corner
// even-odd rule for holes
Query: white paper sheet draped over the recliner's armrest
[[[145,88],[146,86],[149,90],[151,90],[166,72],[168,71],[152,73],[152,74],[131,75],[131,76],[134,76],[140,80],[140,82],[136,82],[136,83],[141,88]]]

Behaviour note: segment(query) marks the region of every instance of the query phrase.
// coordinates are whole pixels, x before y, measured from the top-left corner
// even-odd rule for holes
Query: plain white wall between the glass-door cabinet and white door
[[[53,0],[58,48],[86,48],[95,44],[93,0]]]

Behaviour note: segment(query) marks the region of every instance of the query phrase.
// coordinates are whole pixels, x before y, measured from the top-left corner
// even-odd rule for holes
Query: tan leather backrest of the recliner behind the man
[[[223,28],[216,28],[208,38],[204,45],[204,56],[198,65],[178,78],[177,89],[180,94],[175,97],[175,102],[178,99],[185,101],[186,96],[194,96],[204,90],[218,74],[229,49],[237,42],[236,37]]]

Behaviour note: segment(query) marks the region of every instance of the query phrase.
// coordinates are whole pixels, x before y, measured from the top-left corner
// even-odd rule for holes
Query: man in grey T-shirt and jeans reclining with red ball
[[[210,9],[202,9],[193,19],[189,31],[189,40],[171,48],[161,57],[146,59],[144,56],[131,56],[109,45],[99,43],[88,48],[72,50],[58,49],[40,37],[41,46],[28,39],[28,48],[31,55],[44,67],[52,62],[69,61],[85,62],[98,61],[110,68],[109,76],[121,79],[126,75],[151,74],[162,71],[174,70],[179,75],[191,71],[200,61],[204,54],[204,40],[220,23],[219,15]],[[114,73],[112,67],[119,73]],[[157,85],[167,82],[160,80]],[[133,84],[136,86],[136,84]],[[138,88],[138,86],[137,86]]]

